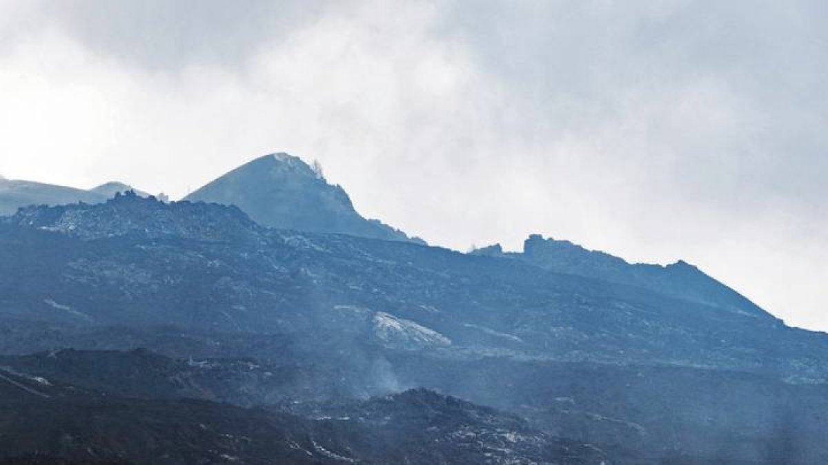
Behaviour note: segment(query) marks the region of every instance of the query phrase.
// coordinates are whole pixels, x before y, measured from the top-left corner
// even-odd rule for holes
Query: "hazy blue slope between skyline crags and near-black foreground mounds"
[[[17,370],[48,377],[66,362],[73,383],[149,384],[156,400],[238,405],[421,386],[525,415],[575,443],[609,443],[612,463],[825,463],[828,337],[728,299],[510,256],[264,228],[234,207],[132,194],[0,220],[2,351],[148,347],[187,361],[140,352],[0,361]],[[244,361],[209,360],[217,356]],[[94,367],[100,376],[88,376]],[[413,399],[426,412],[442,402]],[[378,411],[368,423],[388,416]],[[364,424],[343,421],[325,428],[364,437],[353,433]]]

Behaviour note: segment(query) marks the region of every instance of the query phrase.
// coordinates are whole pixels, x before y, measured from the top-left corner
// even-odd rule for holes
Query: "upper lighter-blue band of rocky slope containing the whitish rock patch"
[[[769,314],[523,261],[267,229],[233,207],[133,195],[6,223],[2,313],[17,318],[330,331],[389,350],[828,379],[828,338]]]

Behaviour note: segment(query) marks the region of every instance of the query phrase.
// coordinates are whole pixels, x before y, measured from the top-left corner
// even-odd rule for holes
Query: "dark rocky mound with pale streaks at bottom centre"
[[[426,389],[323,405],[315,416],[326,440],[348,444],[351,453],[369,462],[609,463],[595,446],[553,437],[517,416]]]

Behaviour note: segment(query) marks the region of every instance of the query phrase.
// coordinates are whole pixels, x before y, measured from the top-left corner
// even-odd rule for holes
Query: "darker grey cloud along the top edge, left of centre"
[[[35,0],[14,31],[53,27],[89,50],[156,72],[233,69],[330,7],[327,0]]]

